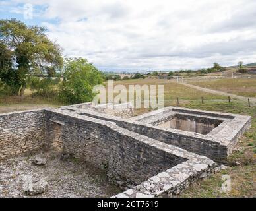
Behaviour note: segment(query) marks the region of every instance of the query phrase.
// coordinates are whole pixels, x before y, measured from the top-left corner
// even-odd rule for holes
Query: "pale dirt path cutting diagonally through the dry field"
[[[239,95],[236,95],[236,94],[230,94],[230,93],[227,93],[227,92],[211,90],[209,88],[203,88],[203,87],[200,87],[200,86],[195,86],[195,85],[186,84],[186,83],[182,83],[182,85],[190,87],[190,88],[194,88],[196,90],[200,90],[202,92],[208,92],[208,93],[212,93],[212,94],[219,94],[219,95],[222,95],[222,96],[230,96],[231,98],[236,98],[238,100],[243,100],[243,101],[246,101],[246,102],[248,101],[247,97],[239,96]],[[250,102],[251,102],[251,105],[256,105],[256,98],[250,98]]]

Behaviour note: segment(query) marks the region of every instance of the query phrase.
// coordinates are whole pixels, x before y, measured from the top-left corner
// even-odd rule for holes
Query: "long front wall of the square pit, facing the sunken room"
[[[166,144],[178,146],[189,152],[195,152],[204,156],[208,156],[216,161],[225,162],[228,157],[228,147],[216,142],[218,138],[201,138],[199,135],[191,136],[187,131],[170,131],[155,127],[147,123],[124,121],[110,115],[98,115],[96,112],[83,111],[82,115],[94,117],[98,119],[108,120],[116,123],[119,127],[123,127],[129,131],[133,131],[140,135],[154,138]]]

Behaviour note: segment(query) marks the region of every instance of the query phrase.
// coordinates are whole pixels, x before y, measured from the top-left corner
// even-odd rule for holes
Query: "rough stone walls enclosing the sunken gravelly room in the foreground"
[[[163,138],[160,129],[118,117],[104,120],[95,113],[97,118],[65,109],[0,115],[0,158],[42,146],[62,150],[106,168],[111,181],[132,187],[116,197],[177,194],[216,167],[205,156],[156,140]]]

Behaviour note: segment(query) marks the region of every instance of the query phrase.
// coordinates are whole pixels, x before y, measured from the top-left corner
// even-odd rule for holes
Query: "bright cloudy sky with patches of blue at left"
[[[64,55],[102,70],[256,62],[255,0],[9,0],[0,18],[45,26]]]

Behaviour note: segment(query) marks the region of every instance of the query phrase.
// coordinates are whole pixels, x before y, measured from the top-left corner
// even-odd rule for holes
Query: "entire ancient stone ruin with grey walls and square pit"
[[[250,126],[249,116],[181,107],[133,117],[130,104],[86,103],[5,113],[0,115],[0,161],[4,166],[18,154],[59,152],[63,160],[71,156],[106,169],[108,181],[123,190],[113,197],[173,196],[225,164]],[[51,165],[40,157],[33,162],[42,172],[44,165]],[[41,193],[30,181],[26,191]],[[52,186],[44,180],[36,183]]]

